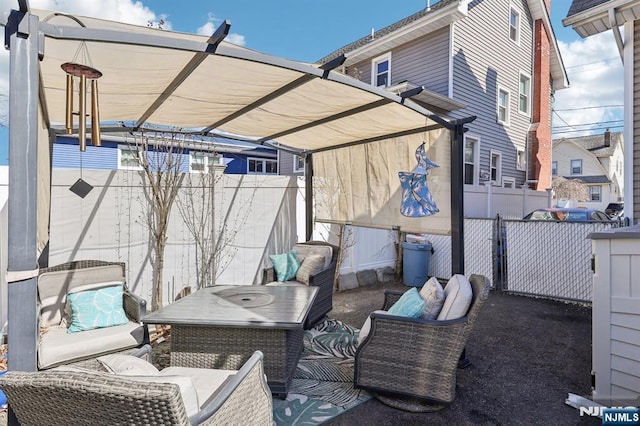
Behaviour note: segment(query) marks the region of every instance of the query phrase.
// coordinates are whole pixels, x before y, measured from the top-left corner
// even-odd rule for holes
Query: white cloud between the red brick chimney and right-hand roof
[[[601,133],[603,127],[621,126],[621,122],[612,122],[623,118],[624,80],[622,60],[611,31],[571,43],[559,41],[558,46],[571,86],[556,91],[554,96],[554,138]],[[599,108],[590,108],[594,106]],[[584,130],[588,123],[600,123],[590,126],[600,129]]]

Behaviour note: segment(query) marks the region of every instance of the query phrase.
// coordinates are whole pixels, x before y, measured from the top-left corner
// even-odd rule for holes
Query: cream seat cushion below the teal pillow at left
[[[66,327],[49,327],[40,337],[38,368],[49,368],[78,359],[139,346],[144,340],[140,324],[127,324],[67,333]]]

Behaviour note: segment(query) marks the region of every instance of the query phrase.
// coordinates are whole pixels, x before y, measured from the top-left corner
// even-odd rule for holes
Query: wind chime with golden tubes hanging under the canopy
[[[85,65],[86,64],[86,65]],[[80,151],[87,149],[87,80],[91,82],[91,143],[100,146],[100,110],[98,108],[98,79],[102,73],[93,68],[86,43],[80,43],[71,62],[60,66],[67,74],[66,117],[67,134],[73,133],[73,116],[78,116]],[[74,83],[78,79],[78,111],[73,110]]]

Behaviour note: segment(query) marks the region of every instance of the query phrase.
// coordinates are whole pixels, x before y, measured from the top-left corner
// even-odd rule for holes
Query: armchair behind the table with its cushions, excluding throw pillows
[[[333,309],[333,291],[336,274],[336,265],[340,249],[338,246],[324,241],[307,241],[297,243],[293,246],[293,251],[300,257],[307,254],[321,254],[325,257],[325,265],[322,270],[309,276],[309,285],[318,287],[316,300],[309,311],[304,328],[309,329],[322,320]],[[262,284],[265,285],[305,285],[298,281],[276,281],[276,274],[273,267],[263,271]]]

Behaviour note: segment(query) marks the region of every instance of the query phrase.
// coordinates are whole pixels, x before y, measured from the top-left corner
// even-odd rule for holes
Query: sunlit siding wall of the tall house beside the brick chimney
[[[520,43],[509,39],[509,11],[520,11]],[[454,24],[453,98],[466,104],[455,117],[477,116],[467,127],[480,137],[480,170],[489,170],[490,151],[502,154],[502,176],[516,185],[526,173],[516,169],[517,148],[526,149],[530,116],[518,112],[520,72],[531,76],[533,85],[533,23],[526,1],[477,0],[469,4],[469,15]],[[508,126],[497,123],[498,86],[510,92]],[[532,88],[533,93],[533,88]]]

